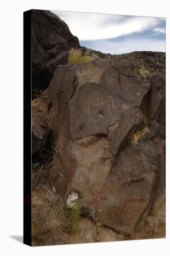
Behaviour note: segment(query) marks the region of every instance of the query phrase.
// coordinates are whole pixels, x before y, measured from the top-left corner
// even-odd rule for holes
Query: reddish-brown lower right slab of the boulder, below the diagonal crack
[[[127,146],[107,178],[98,221],[119,232],[131,233],[149,214],[156,183],[157,150],[152,141]]]

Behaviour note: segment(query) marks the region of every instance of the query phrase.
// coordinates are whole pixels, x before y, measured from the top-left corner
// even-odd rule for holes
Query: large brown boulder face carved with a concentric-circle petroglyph
[[[153,140],[162,136],[157,131],[135,147],[129,141],[148,107],[150,125],[162,125],[163,103],[156,113],[148,105],[152,81],[134,70],[130,61],[116,58],[58,66],[43,96],[51,106],[54,191],[74,191],[86,216],[126,234],[150,212],[163,154]]]

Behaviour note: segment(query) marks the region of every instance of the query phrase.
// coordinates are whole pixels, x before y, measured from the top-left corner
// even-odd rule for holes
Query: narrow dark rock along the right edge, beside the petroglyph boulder
[[[150,134],[159,154],[157,188],[153,203],[153,211],[156,211],[165,202],[165,74],[157,74],[149,77],[152,90],[148,102],[148,119],[150,122]]]

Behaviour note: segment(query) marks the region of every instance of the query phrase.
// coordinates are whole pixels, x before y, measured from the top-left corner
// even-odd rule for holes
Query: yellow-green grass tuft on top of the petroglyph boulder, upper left
[[[77,62],[82,62],[82,61],[90,61],[93,58],[91,56],[87,56],[84,55],[82,56],[82,51],[80,49],[74,49],[72,48],[69,52],[68,52],[68,63],[70,64],[74,64]]]

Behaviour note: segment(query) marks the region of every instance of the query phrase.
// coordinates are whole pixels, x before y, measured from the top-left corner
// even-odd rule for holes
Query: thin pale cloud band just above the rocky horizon
[[[88,47],[110,54],[123,54],[134,51],[165,52],[165,41],[154,39],[125,39],[119,42],[107,40],[88,41]]]

